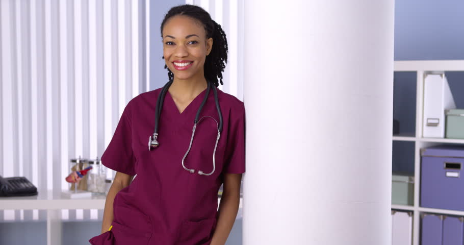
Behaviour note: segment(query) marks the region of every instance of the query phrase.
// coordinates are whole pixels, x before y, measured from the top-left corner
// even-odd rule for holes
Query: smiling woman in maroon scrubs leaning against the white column
[[[225,33],[202,8],[182,5],[166,14],[161,35],[169,83],[164,97],[159,88],[127,104],[101,157],[117,172],[102,234],[90,239],[94,245],[223,245],[237,216],[245,108],[236,97],[215,91],[227,62]],[[159,145],[149,150],[156,117]]]

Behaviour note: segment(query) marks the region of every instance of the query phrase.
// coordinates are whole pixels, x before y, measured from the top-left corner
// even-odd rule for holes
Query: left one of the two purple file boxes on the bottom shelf
[[[422,218],[422,245],[442,244],[443,237],[443,215],[421,214]]]

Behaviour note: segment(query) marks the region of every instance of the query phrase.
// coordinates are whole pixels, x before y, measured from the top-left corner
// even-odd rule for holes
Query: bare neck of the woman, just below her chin
[[[171,96],[181,100],[195,98],[208,86],[203,74],[200,75],[201,76],[195,76],[186,80],[176,79],[174,77],[174,81],[169,87],[169,93]]]

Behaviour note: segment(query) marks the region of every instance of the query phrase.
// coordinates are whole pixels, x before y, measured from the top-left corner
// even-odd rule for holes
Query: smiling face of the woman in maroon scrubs
[[[212,46],[213,39],[206,38],[206,31],[193,18],[178,15],[164,24],[164,60],[174,79],[203,78],[204,61]]]

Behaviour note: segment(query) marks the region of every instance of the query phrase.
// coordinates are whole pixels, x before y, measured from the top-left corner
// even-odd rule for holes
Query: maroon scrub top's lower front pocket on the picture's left
[[[132,208],[117,206],[114,217],[111,232],[114,235],[115,245],[148,244],[152,234],[149,216]]]

